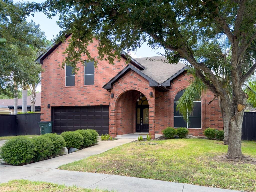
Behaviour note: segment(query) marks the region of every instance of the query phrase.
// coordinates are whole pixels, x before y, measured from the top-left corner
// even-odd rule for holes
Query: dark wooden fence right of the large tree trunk
[[[256,112],[244,112],[242,140],[256,141]]]

